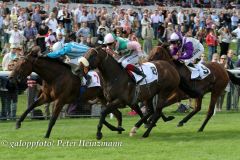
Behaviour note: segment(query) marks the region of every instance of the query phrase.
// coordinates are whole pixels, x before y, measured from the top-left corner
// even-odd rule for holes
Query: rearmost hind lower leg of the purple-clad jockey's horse
[[[199,128],[198,132],[202,132],[203,131],[203,129],[206,126],[207,122],[212,117],[212,115],[214,113],[215,104],[217,102],[217,99],[221,95],[219,93],[221,93],[221,92],[218,92],[218,93],[215,92],[215,93],[211,94],[211,100],[210,100],[210,105],[209,105],[209,108],[208,108],[207,117],[205,118],[205,120],[204,120],[202,126]]]

